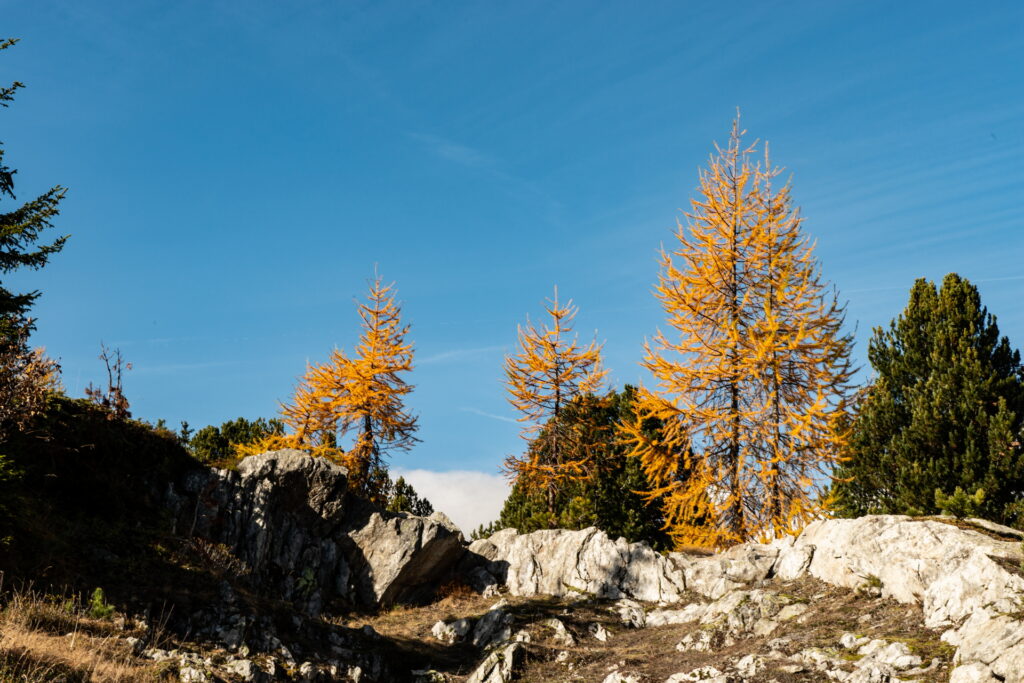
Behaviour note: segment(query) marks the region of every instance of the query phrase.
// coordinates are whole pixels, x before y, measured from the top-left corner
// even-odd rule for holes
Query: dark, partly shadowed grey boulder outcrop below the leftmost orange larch
[[[168,492],[176,531],[221,544],[238,577],[315,615],[331,601],[381,605],[430,596],[463,554],[446,518],[377,510],[347,494],[344,468],[299,451],[234,471],[189,473]]]

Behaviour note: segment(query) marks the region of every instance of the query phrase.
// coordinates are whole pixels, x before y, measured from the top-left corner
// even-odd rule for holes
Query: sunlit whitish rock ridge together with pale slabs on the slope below
[[[807,606],[759,587],[768,580],[812,577],[920,605],[924,626],[943,629],[942,640],[957,648],[951,680],[1024,683],[1021,532],[981,520],[965,528],[971,523],[893,515],[822,520],[795,538],[707,557],[663,556],[593,528],[528,535],[506,529],[474,542],[464,566],[475,583],[485,583],[482,571],[515,596],[615,599],[624,622],[635,627],[699,623],[701,629],[679,644],[681,651],[714,649],[740,634],[767,637]],[[694,594],[712,602],[694,601]],[[664,608],[646,612],[637,601]],[[673,604],[678,602],[688,604]],[[850,638],[844,646],[862,661],[852,672],[840,668],[844,657],[811,650],[787,666],[841,672],[828,675],[850,681],[897,680],[900,673],[918,676],[927,668],[898,643]]]

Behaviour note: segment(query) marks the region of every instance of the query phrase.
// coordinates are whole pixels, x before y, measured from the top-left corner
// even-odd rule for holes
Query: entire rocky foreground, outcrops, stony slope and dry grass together
[[[982,520],[824,520],[714,555],[596,529],[467,545],[286,452],[193,473],[168,509],[174,564],[207,583],[102,618],[8,600],[0,680],[1024,682],[1021,533]]]

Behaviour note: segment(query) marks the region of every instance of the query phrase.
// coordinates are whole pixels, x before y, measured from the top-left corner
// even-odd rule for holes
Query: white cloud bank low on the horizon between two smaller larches
[[[452,518],[462,532],[469,535],[480,524],[498,519],[510,486],[500,474],[475,470],[407,470],[395,468],[391,477],[406,477],[416,493]]]

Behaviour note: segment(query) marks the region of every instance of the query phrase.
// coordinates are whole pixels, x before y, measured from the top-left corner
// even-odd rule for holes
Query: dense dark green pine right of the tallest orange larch
[[[837,512],[933,514],[959,488],[977,514],[1024,521],[1020,353],[977,288],[955,273],[938,291],[916,281],[903,313],[874,330],[868,359],[877,377],[837,472]]]

